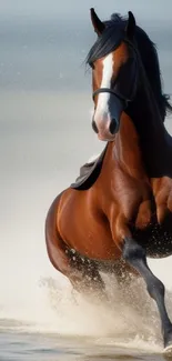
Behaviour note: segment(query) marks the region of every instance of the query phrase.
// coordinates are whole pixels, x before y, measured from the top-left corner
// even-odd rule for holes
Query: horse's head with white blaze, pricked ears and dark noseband
[[[89,56],[94,100],[92,126],[99,139],[110,141],[119,130],[122,111],[136,92],[139,67],[133,46],[135,19],[129,12],[125,28],[117,31],[105,27],[93,9],[91,20],[98,34]]]

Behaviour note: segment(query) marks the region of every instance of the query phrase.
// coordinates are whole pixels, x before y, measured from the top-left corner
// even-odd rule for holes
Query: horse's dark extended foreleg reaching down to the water
[[[148,292],[151,298],[154,299],[159,309],[164,347],[166,348],[172,345],[172,323],[169,319],[164,303],[164,284],[149,269],[145,250],[132,238],[125,238],[122,254],[124,260],[143,277]]]

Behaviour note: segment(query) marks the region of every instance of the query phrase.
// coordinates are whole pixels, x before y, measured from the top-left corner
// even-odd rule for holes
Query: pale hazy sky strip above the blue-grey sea
[[[171,0],[0,0],[0,17],[87,19],[90,7],[94,7],[103,18],[115,11],[125,13],[132,10],[148,20],[172,20]]]

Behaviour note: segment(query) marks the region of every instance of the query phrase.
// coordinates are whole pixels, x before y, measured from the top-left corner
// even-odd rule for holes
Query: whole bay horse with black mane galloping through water
[[[172,254],[172,138],[164,128],[170,104],[162,94],[158,54],[145,32],[91,9],[98,39],[92,68],[93,129],[107,147],[77,184],[53,201],[45,221],[49,258],[77,290],[104,289],[99,271],[140,274],[155,300],[164,347],[172,323],[164,285],[146,257]]]

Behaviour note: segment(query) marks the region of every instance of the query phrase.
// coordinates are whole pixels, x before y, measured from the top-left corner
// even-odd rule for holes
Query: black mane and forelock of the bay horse
[[[119,13],[113,13],[111,19],[104,21],[105,30],[98,37],[95,43],[91,48],[87,57],[87,63],[92,67],[92,63],[102,57],[105,57],[111,51],[115,50],[121,41],[124,39],[124,29],[128,19],[121,17]],[[172,106],[169,102],[170,96],[162,91],[161,71],[159,64],[159,57],[155,44],[151,41],[145,31],[136,26],[135,43],[155,97],[160,114],[164,121],[166,112],[172,111]]]

